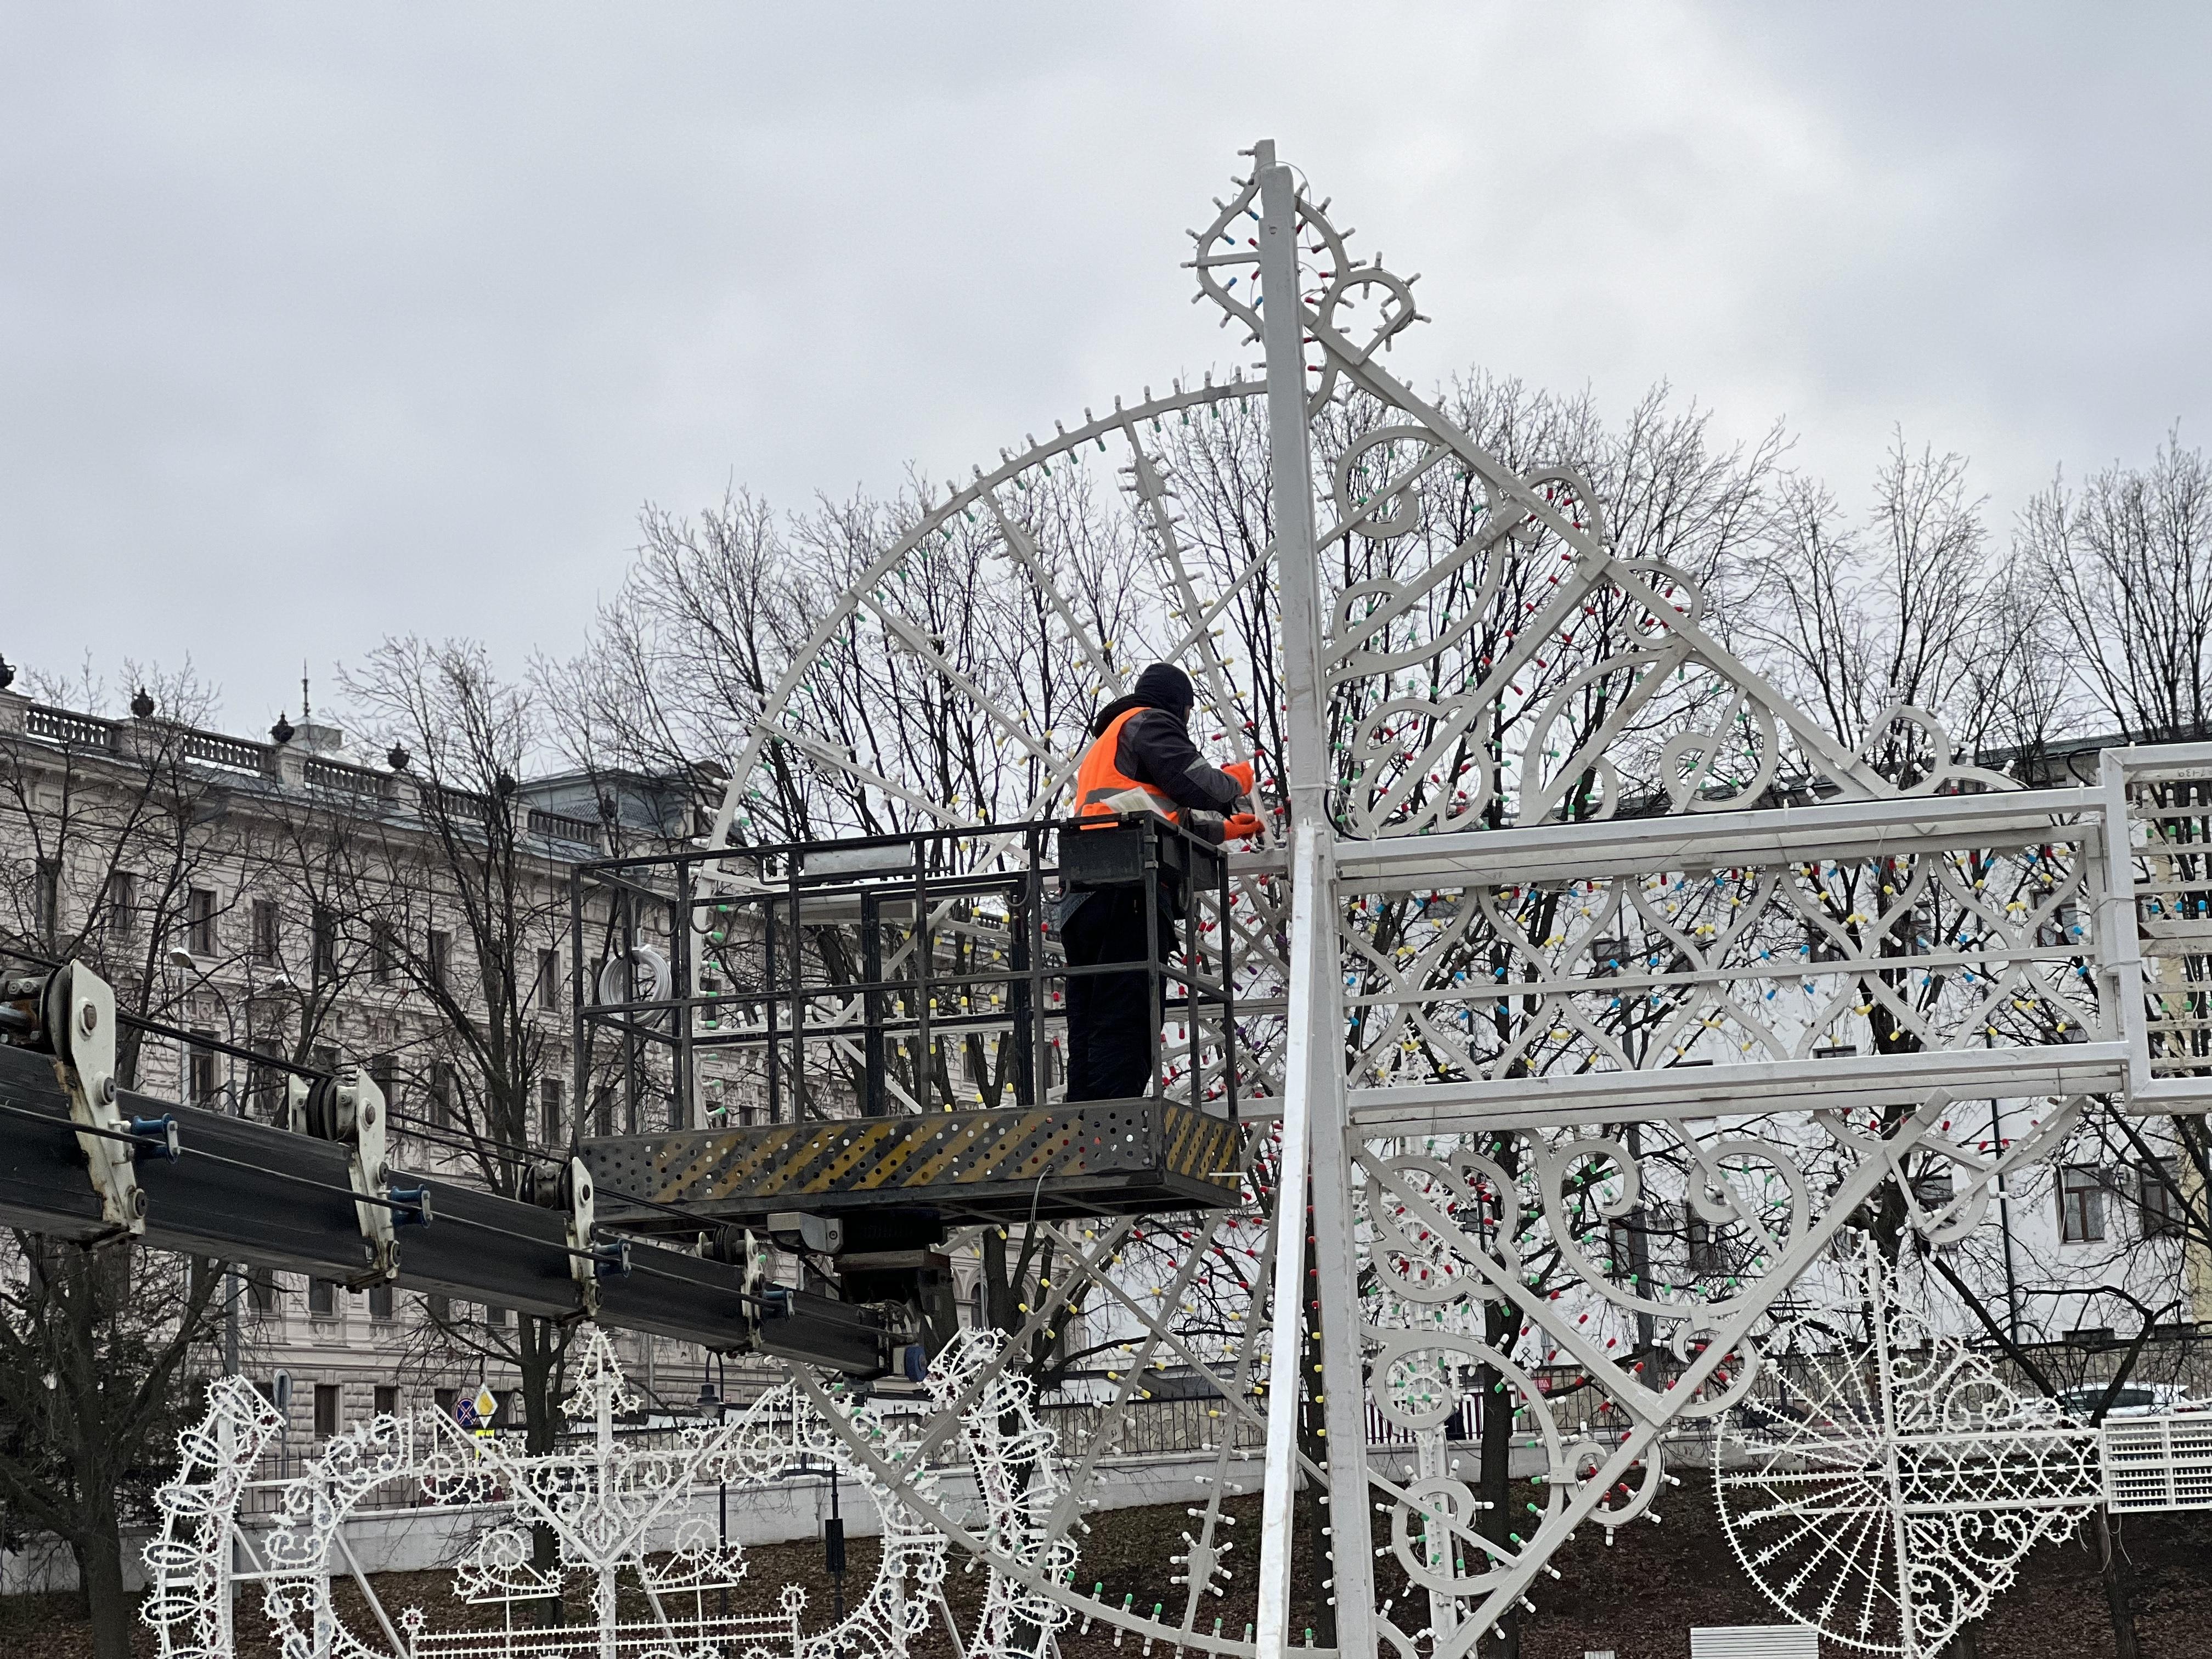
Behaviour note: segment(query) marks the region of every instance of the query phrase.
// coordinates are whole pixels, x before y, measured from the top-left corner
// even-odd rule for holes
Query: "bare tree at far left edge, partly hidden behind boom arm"
[[[0,947],[20,953],[7,964],[18,973],[88,962],[122,1006],[157,1020],[219,1018],[206,975],[239,953],[226,911],[243,830],[226,814],[228,787],[190,763],[184,721],[204,714],[201,688],[155,672],[128,684],[131,719],[49,706],[33,730],[0,737]],[[82,703],[97,688],[42,690]],[[221,1035],[234,1040],[234,1026]],[[142,1029],[126,1024],[124,1077],[146,1057]],[[11,1232],[0,1256],[0,1498],[69,1544],[93,1650],[126,1659],[119,1528],[148,1511],[190,1418],[186,1385],[215,1358],[223,1274],[128,1237],[75,1245]]]

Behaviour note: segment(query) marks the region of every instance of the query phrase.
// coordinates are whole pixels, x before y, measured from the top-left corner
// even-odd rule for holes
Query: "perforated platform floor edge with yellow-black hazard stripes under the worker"
[[[686,1221],[613,1194],[757,1225],[774,1210],[945,1217],[1150,1214],[1241,1201],[1241,1130],[1164,1099],[852,1117],[830,1124],[622,1135],[584,1144],[599,1217],[626,1230]]]

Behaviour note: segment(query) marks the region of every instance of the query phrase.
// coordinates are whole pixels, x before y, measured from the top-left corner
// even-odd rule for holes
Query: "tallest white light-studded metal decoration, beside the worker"
[[[1515,471],[1387,372],[1413,279],[1358,254],[1272,146],[1252,161],[1192,270],[1265,380],[1084,411],[936,495],[794,655],[717,845],[770,834],[774,761],[816,823],[964,827],[987,860],[993,821],[1064,801],[1084,719],[1135,664],[1190,670],[1223,757],[1274,774],[1219,922],[1263,1009],[1241,1033],[1248,1170],[1272,1214],[1310,1214],[1312,1256],[1270,1230],[1272,1298],[1237,1352],[1199,1354],[1186,1279],[1133,1303],[1113,1272],[1121,1223],[1073,1250],[1018,1340],[1079,1287],[1237,1413],[1267,1378],[1259,1650],[1292,1644],[1303,1480],[1338,1517],[1378,1504],[1405,1575],[1378,1590],[1378,1557],[1332,1551],[1338,1646],[1447,1659],[1528,1606],[1577,1526],[1657,1517],[1666,1440],[1747,1398],[1772,1312],[1885,1183],[1947,1172],[1940,1212],[1905,1190],[1913,1225],[1949,1234],[2081,1095],[2201,1097],[2194,1002],[2168,998],[2146,1035],[2135,902],[2192,787],[2172,779],[2203,761],[2130,752],[2099,787],[2022,790],[1909,706],[1838,741],[1723,646],[1690,571],[1613,544],[1575,458]],[[1064,557],[1066,478],[1102,453],[1148,562],[1110,630]],[[1263,482],[1272,535],[1252,535]],[[991,593],[1035,626],[978,626]],[[836,717],[816,675],[863,637],[967,703],[967,799]],[[1951,1106],[1991,1095],[2033,1124],[1991,1141]],[[1245,1225],[1197,1221],[1159,1276]],[[1559,1365],[1566,1402],[1542,1378]],[[1444,1451],[1471,1378],[1542,1451],[1546,1500],[1511,1528]],[[1325,1458],[1296,1433],[1307,1396]],[[1413,1433],[1411,1478],[1369,1467],[1369,1400]],[[1245,1650],[1199,1610],[1086,1617]]]

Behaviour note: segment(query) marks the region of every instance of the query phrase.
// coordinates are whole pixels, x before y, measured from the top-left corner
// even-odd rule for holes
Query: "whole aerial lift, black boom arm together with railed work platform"
[[[518,1148],[535,1155],[518,1197],[400,1168],[365,1073],[175,1031],[119,1011],[84,962],[11,958],[0,1223],[911,1376],[949,1336],[951,1228],[1245,1201],[1232,929],[1199,920],[1228,914],[1223,860],[1155,818],[1066,836],[1075,869],[1053,869],[1051,830],[993,832],[1013,854],[969,860],[947,834],[580,872],[577,1099],[606,1084],[633,1133]],[[1166,896],[1150,964],[1073,969],[1150,973],[1179,1037],[1155,1029],[1148,1097],[1053,1095],[1071,971],[1048,951],[1053,878]],[[285,1073],[274,1121],[122,1086],[124,1024]],[[1004,1104],[951,1095],[945,1037],[1004,1051]],[[743,1088],[750,1108],[714,1104]],[[772,1248],[807,1263],[803,1285],[776,1283]]]

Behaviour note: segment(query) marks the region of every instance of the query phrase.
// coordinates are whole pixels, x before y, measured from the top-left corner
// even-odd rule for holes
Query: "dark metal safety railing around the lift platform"
[[[1141,896],[1141,953],[1068,962],[1055,914],[1095,889]],[[1159,816],[608,858],[571,891],[602,1133],[1060,1099],[1071,984],[1128,973],[1144,1093],[1234,1113],[1228,858]]]

